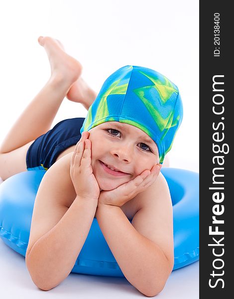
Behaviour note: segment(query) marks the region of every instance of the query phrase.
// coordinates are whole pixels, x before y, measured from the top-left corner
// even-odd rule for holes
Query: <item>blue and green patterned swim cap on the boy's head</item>
[[[156,143],[162,163],[182,118],[183,105],[174,83],[149,68],[126,65],[104,82],[80,132],[113,121],[135,126]]]

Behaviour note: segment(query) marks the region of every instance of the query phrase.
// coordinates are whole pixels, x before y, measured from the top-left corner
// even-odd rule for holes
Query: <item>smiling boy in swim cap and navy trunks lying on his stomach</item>
[[[35,199],[26,252],[31,278],[42,290],[60,284],[96,217],[126,279],[142,294],[155,296],[173,268],[171,198],[157,164],[182,120],[178,89],[158,73],[154,82],[152,70],[126,66],[105,81],[94,101],[95,93],[80,78],[80,63],[59,41],[38,41],[47,51],[51,77],[0,148],[3,179],[25,170],[47,170]],[[143,89],[137,88],[137,76],[147,82]],[[134,105],[130,92],[147,110],[129,106]],[[162,100],[158,110],[151,101],[155,93]],[[65,96],[79,99],[88,115],[48,131]],[[151,112],[156,115],[152,120]]]

